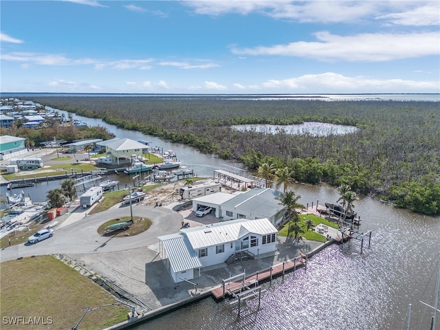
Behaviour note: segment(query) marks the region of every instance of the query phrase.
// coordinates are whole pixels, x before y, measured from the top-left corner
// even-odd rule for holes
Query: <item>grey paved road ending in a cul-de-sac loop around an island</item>
[[[39,254],[69,254],[69,253],[96,253],[116,252],[141,248],[156,243],[157,236],[173,234],[181,228],[183,217],[173,210],[162,207],[137,204],[133,206],[134,217],[151,219],[151,227],[141,234],[131,237],[100,236],[98,227],[118,217],[130,214],[129,206],[120,206],[110,210],[82,217],[60,228],[54,228],[54,236],[34,245],[23,243],[12,245],[1,250],[0,261],[17,259],[23,256]],[[78,210],[80,212],[80,210]],[[76,214],[72,213],[71,217]],[[67,219],[68,220],[68,219]]]

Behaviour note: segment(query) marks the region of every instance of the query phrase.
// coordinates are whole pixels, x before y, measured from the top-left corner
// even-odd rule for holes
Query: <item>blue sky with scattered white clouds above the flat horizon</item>
[[[439,1],[0,2],[1,92],[439,93]]]

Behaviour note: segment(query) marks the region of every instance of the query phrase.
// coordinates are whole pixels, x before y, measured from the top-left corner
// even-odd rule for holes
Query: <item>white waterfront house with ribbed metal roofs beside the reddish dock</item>
[[[203,267],[224,263],[239,252],[251,256],[275,252],[277,232],[268,219],[236,219],[157,238],[162,261],[179,283],[199,277]]]

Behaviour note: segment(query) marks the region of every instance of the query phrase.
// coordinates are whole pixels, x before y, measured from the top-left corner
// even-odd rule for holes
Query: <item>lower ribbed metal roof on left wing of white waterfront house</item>
[[[164,244],[172,272],[182,272],[202,267],[188,238],[181,234],[170,234],[157,237]]]

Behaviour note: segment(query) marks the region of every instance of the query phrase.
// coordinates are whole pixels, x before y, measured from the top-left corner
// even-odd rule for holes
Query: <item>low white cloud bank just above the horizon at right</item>
[[[380,80],[364,76],[347,77],[334,72],[306,74],[297,78],[267,80],[261,84],[264,89],[287,90],[294,92],[322,91],[325,93],[406,93],[438,91],[438,81],[415,81],[403,79]]]

